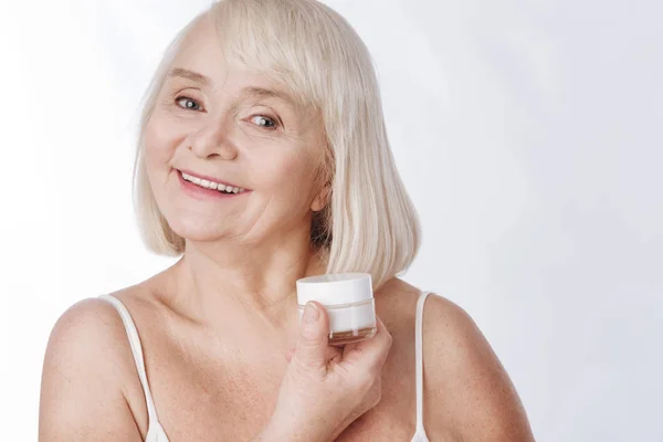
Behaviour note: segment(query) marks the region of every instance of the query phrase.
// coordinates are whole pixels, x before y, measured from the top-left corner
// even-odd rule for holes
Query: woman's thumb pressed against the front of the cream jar
[[[327,367],[329,318],[325,307],[314,301],[306,303],[299,323],[297,346],[293,355],[304,368],[316,370]]]

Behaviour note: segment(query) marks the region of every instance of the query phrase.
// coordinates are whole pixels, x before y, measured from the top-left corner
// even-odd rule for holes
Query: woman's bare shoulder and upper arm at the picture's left
[[[122,386],[127,355],[118,343],[126,339],[102,299],[82,301],[57,319],[42,371],[40,442],[143,440]]]

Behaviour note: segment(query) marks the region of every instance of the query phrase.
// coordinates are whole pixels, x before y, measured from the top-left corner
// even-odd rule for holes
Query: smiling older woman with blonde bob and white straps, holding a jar
[[[173,40],[135,168],[169,269],[53,327],[41,441],[530,441],[473,320],[396,277],[419,223],[370,55],[314,0],[227,0]],[[295,282],[369,273],[377,333],[328,345]],[[425,308],[423,308],[425,305]],[[425,314],[423,314],[425,312]]]

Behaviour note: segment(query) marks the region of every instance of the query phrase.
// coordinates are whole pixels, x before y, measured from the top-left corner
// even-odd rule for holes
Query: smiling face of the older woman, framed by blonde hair
[[[266,76],[230,70],[218,45],[206,18],[170,65],[145,131],[151,189],[171,229],[187,240],[286,239],[308,229],[312,210],[322,209],[314,189],[325,148],[322,119]],[[201,189],[183,181],[182,170],[245,190]]]

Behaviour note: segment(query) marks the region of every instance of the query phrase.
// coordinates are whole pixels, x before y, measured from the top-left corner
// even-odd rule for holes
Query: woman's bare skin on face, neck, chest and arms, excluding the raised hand
[[[206,19],[172,67],[202,73],[210,84],[169,78],[146,131],[150,183],[164,215],[187,239],[186,253],[164,272],[114,293],[138,328],[159,421],[171,441],[251,440],[267,424],[296,341],[294,281],[324,273],[308,240],[313,212],[327,203],[327,189],[315,186],[322,120],[287,101],[242,95],[245,86],[278,85],[221,60]],[[192,198],[180,188],[181,168],[249,192]],[[399,278],[376,292],[376,312],[393,338],[381,400],[338,441],[412,438],[419,293]],[[424,312],[429,439],[534,440],[508,376],[472,318],[439,295],[429,296]],[[65,430],[67,424],[76,430]],[[49,341],[40,440],[133,441],[145,439],[147,429],[119,316],[101,299],[75,304]]]

